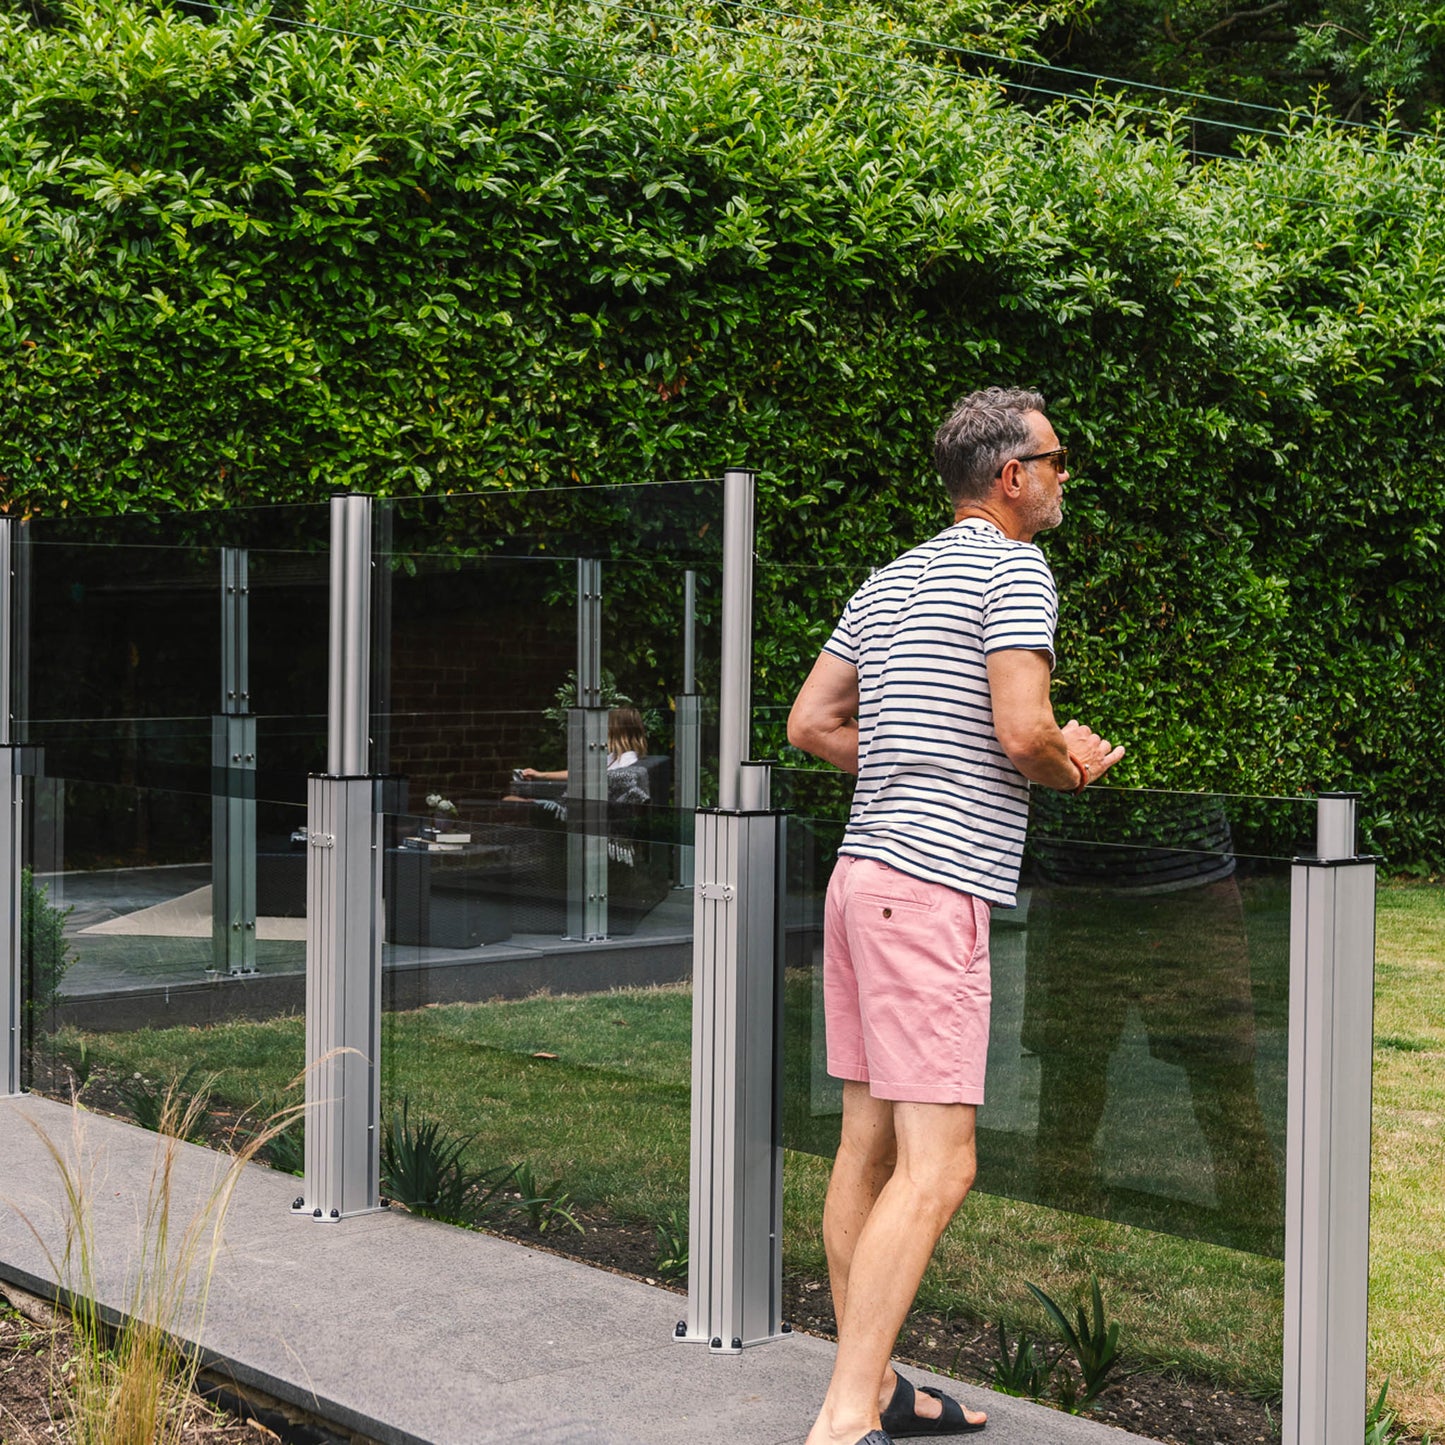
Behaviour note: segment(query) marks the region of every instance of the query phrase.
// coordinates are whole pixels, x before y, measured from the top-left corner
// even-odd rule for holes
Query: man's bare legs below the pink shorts
[[[867,1085],[857,1088],[866,1091]],[[868,1189],[886,1168],[881,1108],[893,1114],[897,1162],[871,1209],[863,1211]],[[808,1445],[855,1445],[879,1428],[880,1403],[887,1400],[887,1393],[879,1399],[880,1381],[892,1389],[889,1357],[897,1334],[939,1235],[974,1182],[974,1116],[972,1104],[883,1104],[871,1098],[864,1104],[855,1094],[844,1094],[845,1133],[838,1150],[844,1172],[837,1192],[829,1183],[825,1212],[828,1267],[840,1312],[838,1357]]]

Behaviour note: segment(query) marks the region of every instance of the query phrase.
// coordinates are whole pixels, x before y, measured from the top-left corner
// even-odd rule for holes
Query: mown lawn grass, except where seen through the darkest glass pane
[[[1380,894],[1370,1379],[1416,1432],[1445,1429],[1445,889]],[[62,1038],[75,1052],[79,1039]],[[176,1078],[194,1065],[217,1098],[280,1097],[301,1068],[299,1019],[85,1039],[97,1069]],[[685,987],[447,1004],[390,1014],[383,1105],[475,1134],[478,1168],[526,1163],[578,1208],[652,1225],[685,1218],[691,997]],[[822,1276],[827,1160],[788,1155],[786,1267]],[[975,1195],[920,1292],[933,1311],[1038,1337],[1026,1282],[1058,1299],[1103,1285],[1133,1360],[1279,1387],[1282,1264],[1220,1244]]]

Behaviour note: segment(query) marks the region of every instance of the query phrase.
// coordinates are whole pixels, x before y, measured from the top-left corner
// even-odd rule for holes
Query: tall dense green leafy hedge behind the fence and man
[[[1445,866],[1436,143],[1199,163],[736,4],[487,14],[0,22],[12,513],[747,462],[782,704],[945,519],[946,403],[1035,384],[1078,457],[1061,709],[1124,782],[1363,788]]]

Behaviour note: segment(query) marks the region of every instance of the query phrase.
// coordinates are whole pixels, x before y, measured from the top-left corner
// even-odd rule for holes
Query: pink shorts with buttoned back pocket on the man
[[[824,918],[828,1072],[874,1098],[981,1104],[988,905],[871,858],[838,858]]]

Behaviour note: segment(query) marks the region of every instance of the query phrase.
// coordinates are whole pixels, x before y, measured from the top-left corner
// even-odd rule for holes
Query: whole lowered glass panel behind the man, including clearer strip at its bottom
[[[790,809],[785,1143],[829,1157],[822,909],[853,780],[775,780]],[[1068,1298],[1082,1270],[1116,1312],[1129,1300],[1140,1348],[1277,1380],[1289,861],[1314,818],[1306,799],[1035,790],[1019,907],[993,912],[978,1182],[929,1308],[1026,1319],[1026,1282]],[[793,1248],[812,1247],[819,1189],[795,1159]]]

